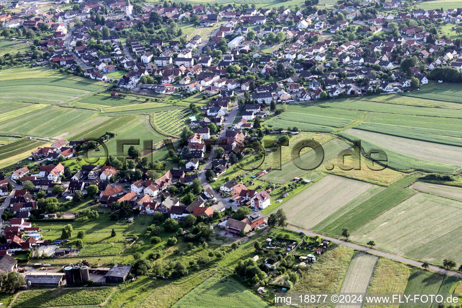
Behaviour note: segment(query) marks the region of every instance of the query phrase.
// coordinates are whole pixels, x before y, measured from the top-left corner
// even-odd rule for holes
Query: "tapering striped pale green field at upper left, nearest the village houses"
[[[61,104],[106,87],[49,68],[8,69],[0,76],[0,101]]]

